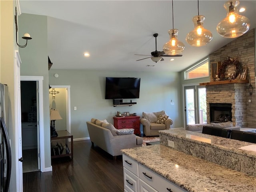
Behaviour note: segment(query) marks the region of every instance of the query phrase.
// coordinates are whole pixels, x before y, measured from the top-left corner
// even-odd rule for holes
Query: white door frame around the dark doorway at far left
[[[43,76],[20,76],[21,81],[37,81],[38,82],[38,112],[39,121],[37,126],[39,126],[39,141],[40,141],[40,171],[46,172],[45,162],[44,162],[44,102],[43,102]],[[21,123],[21,122],[20,122]]]

